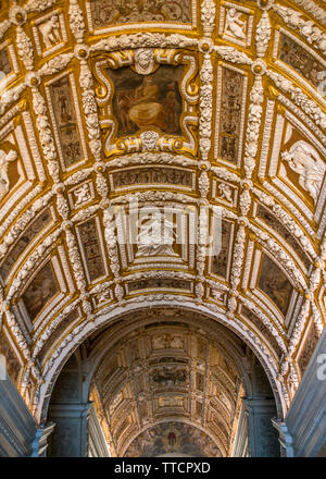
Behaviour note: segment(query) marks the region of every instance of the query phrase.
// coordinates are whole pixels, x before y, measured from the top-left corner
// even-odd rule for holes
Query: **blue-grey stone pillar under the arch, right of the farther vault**
[[[276,416],[273,398],[244,397],[248,412],[249,447],[251,457],[279,457],[280,447],[272,419]]]

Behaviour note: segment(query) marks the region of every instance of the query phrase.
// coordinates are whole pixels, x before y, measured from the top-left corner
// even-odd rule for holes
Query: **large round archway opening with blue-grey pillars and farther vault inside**
[[[53,388],[50,455],[71,455],[72,438],[82,447],[74,454],[88,454],[90,403],[113,456],[279,455],[276,402],[260,361],[198,311],[142,308],[90,334]]]

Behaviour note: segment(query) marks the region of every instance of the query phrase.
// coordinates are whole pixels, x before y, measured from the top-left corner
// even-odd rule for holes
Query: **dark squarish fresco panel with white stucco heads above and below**
[[[178,84],[184,69],[161,65],[153,71],[152,49],[138,49],[135,58],[133,69],[108,69],[115,91],[113,112],[118,136],[146,130],[141,134],[147,136],[141,140],[150,148],[155,144],[154,130],[181,134],[183,100]]]

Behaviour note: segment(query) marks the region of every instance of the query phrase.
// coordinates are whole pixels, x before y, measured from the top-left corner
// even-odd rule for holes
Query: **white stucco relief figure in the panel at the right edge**
[[[299,174],[299,184],[317,200],[325,174],[325,164],[317,151],[308,143],[299,140],[291,146],[290,151],[281,153],[291,170]]]

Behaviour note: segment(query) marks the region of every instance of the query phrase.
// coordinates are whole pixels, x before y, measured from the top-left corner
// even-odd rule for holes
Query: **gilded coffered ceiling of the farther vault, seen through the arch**
[[[149,322],[153,318],[159,326]],[[108,328],[82,348],[96,365],[90,398],[111,454],[158,455],[181,445],[178,452],[229,455],[249,380],[244,343],[181,309],[159,309],[150,318],[138,312],[137,321],[124,321],[133,324],[130,332]],[[202,329],[205,322],[209,331]],[[151,435],[159,442],[161,428],[183,444],[153,444]]]

